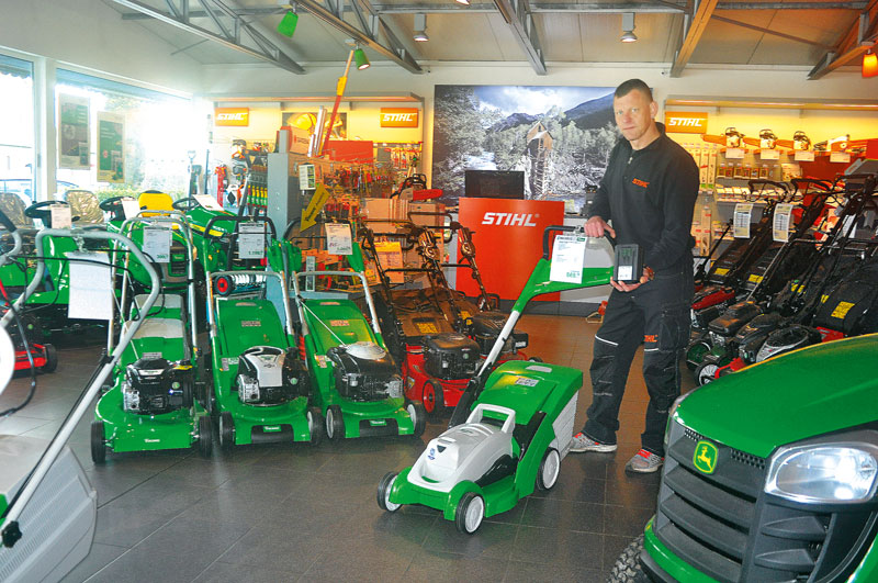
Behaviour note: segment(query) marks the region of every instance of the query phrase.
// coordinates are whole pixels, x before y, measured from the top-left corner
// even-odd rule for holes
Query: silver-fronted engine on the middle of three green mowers
[[[235,383],[246,405],[280,405],[308,394],[308,373],[295,348],[255,346],[238,358]]]

